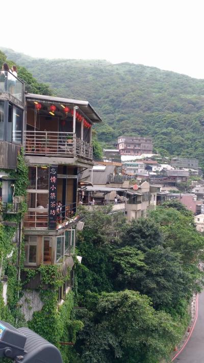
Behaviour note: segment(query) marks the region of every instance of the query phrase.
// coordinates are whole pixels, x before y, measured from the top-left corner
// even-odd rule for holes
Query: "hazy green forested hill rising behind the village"
[[[2,49],[54,93],[88,99],[103,117],[98,138],[113,147],[119,134],[152,136],[164,155],[204,160],[204,80],[138,64],[35,59]]]

